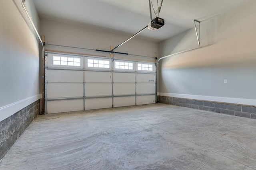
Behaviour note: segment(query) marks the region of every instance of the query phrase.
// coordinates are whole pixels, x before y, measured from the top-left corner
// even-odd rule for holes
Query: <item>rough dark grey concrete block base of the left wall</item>
[[[40,113],[40,100],[0,122],[0,159]]]

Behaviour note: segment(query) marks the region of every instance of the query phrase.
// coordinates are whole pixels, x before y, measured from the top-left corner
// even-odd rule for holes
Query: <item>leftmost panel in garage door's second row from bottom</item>
[[[83,84],[49,83],[47,84],[47,98],[83,97]]]

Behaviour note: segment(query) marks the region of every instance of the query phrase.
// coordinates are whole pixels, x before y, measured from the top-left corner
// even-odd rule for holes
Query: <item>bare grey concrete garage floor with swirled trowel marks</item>
[[[256,120],[165,104],[40,115],[0,169],[255,170]]]

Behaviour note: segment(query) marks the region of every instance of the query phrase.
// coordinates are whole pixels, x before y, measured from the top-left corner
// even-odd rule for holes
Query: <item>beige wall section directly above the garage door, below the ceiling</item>
[[[40,25],[41,34],[45,35],[46,44],[110,51],[110,45],[116,47],[117,45],[129,38],[129,36],[106,33],[86,27],[69,25],[66,23],[58,23],[48,20],[41,20]],[[51,45],[46,45],[46,49],[85,53],[90,55],[110,56],[109,53],[96,52],[93,50],[72,49]],[[118,47],[116,49],[116,52],[147,56],[138,57],[132,55],[116,54],[115,57],[118,58],[154,61],[154,53],[158,53],[158,43],[134,37],[130,41],[124,43],[122,46]]]

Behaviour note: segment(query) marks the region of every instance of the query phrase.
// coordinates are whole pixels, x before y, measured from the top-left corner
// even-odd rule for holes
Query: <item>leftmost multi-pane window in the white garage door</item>
[[[53,56],[53,65],[81,66],[81,59],[76,57]]]

